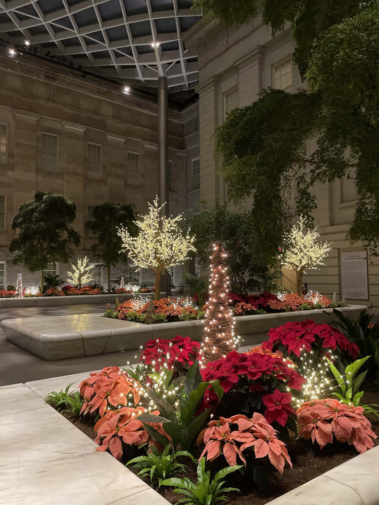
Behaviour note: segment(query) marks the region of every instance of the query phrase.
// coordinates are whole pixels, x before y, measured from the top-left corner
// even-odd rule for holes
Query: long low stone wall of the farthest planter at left
[[[154,293],[81,294],[71,296],[25,296],[23,298],[0,298],[0,309],[10,307],[52,307],[56,305],[113,304],[130,300],[135,296],[154,298]],[[165,293],[161,293],[165,295]]]

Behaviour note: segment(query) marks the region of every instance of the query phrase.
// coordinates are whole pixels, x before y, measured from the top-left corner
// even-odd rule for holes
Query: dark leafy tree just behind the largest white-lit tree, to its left
[[[93,221],[87,221],[85,228],[98,236],[98,242],[91,246],[97,260],[104,263],[108,271],[108,291],[111,291],[111,266],[119,263],[126,265],[127,254],[121,251],[122,240],[118,235],[120,226],[126,228],[131,236],[137,234],[134,224],[136,214],[132,205],[107,201],[96,206],[92,211]]]

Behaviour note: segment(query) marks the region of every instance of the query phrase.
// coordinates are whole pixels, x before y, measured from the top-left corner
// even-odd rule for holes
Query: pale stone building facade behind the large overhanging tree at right
[[[200,198],[213,206],[216,199],[225,201],[227,191],[214,157],[215,128],[228,112],[250,105],[257,99],[257,93],[268,86],[292,91],[304,84],[292,66],[294,44],[290,28],[273,38],[260,15],[239,28],[201,20],[183,35],[183,40],[186,47],[198,54]],[[357,302],[379,311],[379,259],[364,260],[367,251],[362,244],[352,245],[346,240],[355,212],[354,182],[348,178],[336,180],[316,187],[315,194],[318,205],[315,222],[321,238],[333,241],[333,250],[324,267],[304,276],[308,290],[328,296],[336,292],[341,298],[345,295],[349,303]],[[249,202],[245,205],[249,206]],[[283,273],[283,284],[296,291],[295,273]],[[362,284],[361,289],[356,289],[357,282]]]

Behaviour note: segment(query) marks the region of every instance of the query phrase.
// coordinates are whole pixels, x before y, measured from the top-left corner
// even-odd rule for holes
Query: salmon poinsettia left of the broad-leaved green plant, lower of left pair
[[[145,412],[143,407],[122,407],[116,411],[107,412],[94,427],[94,431],[97,432],[95,442],[100,444],[97,450],[105,451],[109,448],[112,456],[120,460],[123,456],[121,440],[128,445],[149,443],[149,446],[157,446],[157,442],[151,438],[144,424],[138,420],[138,416]],[[152,414],[159,415],[159,411]],[[163,430],[162,423],[148,424],[170,439]]]

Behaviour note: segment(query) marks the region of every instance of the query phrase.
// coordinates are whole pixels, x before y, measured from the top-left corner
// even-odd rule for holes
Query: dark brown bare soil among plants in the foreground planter
[[[362,397],[362,405],[364,403],[378,403],[379,404],[379,391],[370,391],[370,385],[366,385],[367,391]],[[95,439],[95,434],[93,432],[93,419],[84,419],[69,417],[67,414],[63,414],[74,426],[85,433],[92,440]],[[373,414],[367,415],[367,418],[371,422],[372,431],[376,433],[379,437],[379,418]],[[374,440],[375,445],[379,445],[379,438]],[[232,487],[238,487],[241,493],[228,493],[227,502],[228,505],[264,505],[274,498],[291,491],[299,487],[301,484],[318,477],[319,475],[331,470],[332,468],[345,463],[346,461],[354,458],[358,455],[358,452],[354,446],[349,446],[344,443],[336,443],[333,446],[328,444],[322,451],[315,451],[315,455],[312,451],[309,442],[303,439],[297,439],[296,435],[293,435],[289,442],[287,442],[288,452],[290,454],[294,468],[291,469],[287,464],[283,475],[275,472],[271,477],[264,492],[260,492],[256,488],[252,489],[251,482],[246,483],[246,486],[240,483],[230,482]],[[198,457],[198,455],[195,455]],[[125,464],[127,459],[122,460],[121,464]],[[196,465],[191,461],[188,464],[188,469],[185,472],[185,477],[196,481]],[[132,468],[129,468],[134,474],[138,472]],[[149,478],[143,479],[147,484],[150,484]],[[178,493],[174,493],[172,488],[161,488],[161,493],[164,493],[164,497],[170,503],[176,503],[181,497]]]

